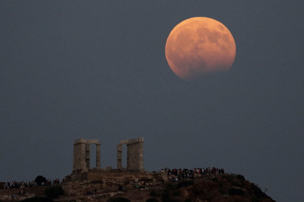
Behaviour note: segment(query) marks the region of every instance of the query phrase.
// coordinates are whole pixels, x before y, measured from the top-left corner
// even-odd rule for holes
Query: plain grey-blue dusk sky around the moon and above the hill
[[[192,17],[230,30],[230,71],[170,69]],[[119,141],[144,137],[147,171],[215,166],[304,201],[303,24],[303,1],[0,1],[0,182],[61,180],[77,138],[116,168]]]

